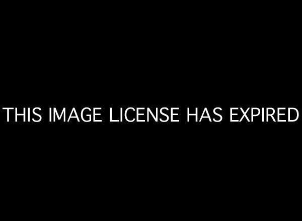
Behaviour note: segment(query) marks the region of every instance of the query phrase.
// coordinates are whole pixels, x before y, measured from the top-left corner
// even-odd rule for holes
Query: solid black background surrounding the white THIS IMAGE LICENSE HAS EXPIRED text
[[[292,9],[49,7],[4,15],[1,107],[179,106],[182,122],[2,121],[7,208],[155,217],[295,209],[300,120],[232,124],[228,113],[300,111]],[[215,106],[222,123],[185,123],[186,107]]]

